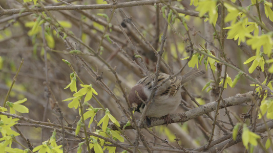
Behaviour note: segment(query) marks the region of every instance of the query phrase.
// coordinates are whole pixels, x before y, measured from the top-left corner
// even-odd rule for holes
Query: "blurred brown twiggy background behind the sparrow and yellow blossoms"
[[[41,1],[44,6],[68,6],[68,5],[101,5],[107,4],[108,1]],[[118,1],[123,3],[128,1]],[[140,3],[141,1],[136,1]],[[147,1],[148,2],[148,1]],[[240,2],[240,1],[239,1]],[[110,2],[112,3],[112,1]],[[243,1],[241,5],[243,7],[250,5],[250,1]],[[24,3],[23,1],[0,1],[0,5],[3,9],[18,9],[26,7],[32,7],[33,3]],[[31,118],[37,121],[50,121],[59,124],[59,114],[56,112],[54,105],[47,104],[47,97],[52,96],[57,100],[59,108],[64,115],[65,124],[72,124],[76,127],[76,123],[79,120],[78,110],[68,108],[70,101],[62,101],[66,98],[72,97],[73,93],[69,89],[64,89],[70,81],[70,73],[72,70],[68,65],[62,62],[62,59],[69,61],[77,72],[79,78],[85,84],[92,84],[93,88],[97,91],[96,98],[100,103],[108,108],[111,114],[117,120],[127,120],[127,117],[122,113],[121,108],[116,103],[116,100],[111,94],[106,92],[105,88],[100,86],[99,81],[96,80],[94,73],[90,72],[85,63],[82,62],[82,58],[90,68],[97,75],[102,76],[102,81],[106,83],[110,90],[121,101],[121,104],[128,109],[125,102],[122,90],[117,83],[115,75],[110,70],[110,67],[115,70],[121,86],[125,92],[129,93],[132,86],[144,77],[145,73],[139,67],[143,68],[143,65],[139,62],[139,57],[136,57],[134,49],[136,49],[143,59],[143,63],[148,70],[153,73],[156,69],[156,56],[153,50],[149,47],[145,40],[143,40],[138,31],[144,36],[146,41],[155,48],[160,49],[161,36],[164,28],[165,19],[162,15],[163,4],[155,5],[140,5],[135,7],[124,7],[119,9],[92,9],[92,10],[59,10],[48,11],[43,13],[46,15],[50,22],[45,22],[45,38],[47,44],[43,42],[43,25],[38,25],[33,30],[35,22],[39,19],[40,13],[38,12],[26,12],[18,14],[8,14],[0,16],[0,101],[1,105],[5,99],[8,89],[12,83],[13,77],[20,65],[20,61],[24,58],[24,63],[19,71],[15,85],[10,93],[9,101],[14,102],[23,98],[28,100],[24,105],[29,109],[28,114],[23,115],[27,118]],[[214,49],[216,57],[219,56],[219,43],[217,39],[214,39],[214,32],[206,31],[204,23],[205,18],[198,16],[198,12],[195,11],[195,6],[190,6],[190,1],[173,2],[172,6],[179,11],[188,11],[190,13],[179,13],[183,16],[187,27],[189,29],[189,35],[187,34],[184,25],[178,20],[174,19],[172,24],[174,29],[167,29],[166,42],[164,44],[163,59],[170,66],[174,73],[187,64],[187,60],[181,60],[191,55],[186,53],[189,47],[189,42],[192,41],[194,46],[200,48],[200,45],[204,46],[204,43],[209,44],[208,49]],[[272,22],[265,17],[263,7],[260,8],[262,12],[261,16],[265,25],[268,28],[272,25]],[[112,13],[114,11],[114,13]],[[257,13],[254,7],[250,10],[252,13]],[[132,19],[133,24],[129,23]],[[220,31],[219,21],[217,21],[216,30]],[[119,28],[119,25],[124,31]],[[134,27],[135,26],[135,27]],[[228,23],[226,23],[228,27]],[[107,29],[105,31],[105,29]],[[58,31],[59,33],[57,33]],[[66,33],[67,32],[67,33]],[[127,34],[127,37],[124,36]],[[61,36],[65,35],[65,39]],[[66,36],[67,35],[67,36]],[[190,39],[188,38],[190,36]],[[212,41],[207,41],[211,38]],[[79,42],[79,40],[81,42]],[[73,47],[72,47],[73,46]],[[87,47],[88,46],[88,47]],[[218,49],[217,49],[218,48]],[[47,58],[45,58],[45,49],[47,52]],[[93,49],[97,55],[91,52]],[[81,53],[73,55],[71,50],[80,50]],[[230,64],[235,65],[241,70],[248,73],[249,65],[243,65],[249,57],[254,56],[255,52],[251,50],[251,47],[247,46],[244,42],[238,46],[238,42],[234,40],[225,39],[224,52],[229,60]],[[99,57],[100,58],[99,58]],[[80,58],[79,58],[80,57]],[[45,60],[46,59],[46,60]],[[47,64],[46,62],[47,61]],[[47,65],[47,66],[46,66]],[[201,62],[199,69],[205,70],[205,64]],[[47,67],[47,69],[46,69]],[[219,66],[221,67],[221,66]],[[186,73],[189,68],[186,66],[180,75]],[[46,72],[47,71],[47,72]],[[164,64],[160,65],[160,71],[170,73],[170,69]],[[208,70],[211,71],[211,70]],[[218,69],[218,71],[220,71]],[[210,95],[206,90],[201,91],[207,82],[212,80],[209,77],[210,72],[203,77],[195,79],[190,83],[185,84],[187,90],[197,99],[202,105],[211,101]],[[250,74],[253,78],[257,77],[259,73],[256,70]],[[223,72],[220,72],[224,76]],[[232,80],[234,80],[237,71],[227,68],[227,74]],[[259,75],[260,82],[263,82],[265,76]],[[45,85],[48,79],[48,86],[52,90],[49,94],[48,87]],[[251,82],[244,77],[241,77],[235,88],[229,86],[223,92],[223,98],[234,96],[237,93],[245,93],[253,91],[253,87],[250,87]],[[77,81],[78,90],[81,88],[80,82]],[[193,109],[195,104],[191,101],[191,98],[185,92],[182,92],[183,100],[181,106],[175,113],[185,112],[187,109]],[[92,98],[89,101],[94,108],[100,107],[96,101]],[[187,109],[186,109],[187,108]],[[84,108],[84,110],[87,107]],[[229,107],[228,110],[234,114],[246,113],[249,109],[247,105],[241,105],[236,107]],[[46,113],[45,113],[46,112]],[[138,119],[141,114],[135,113]],[[212,113],[214,115],[214,113]],[[99,111],[95,116],[95,119],[99,121],[104,116],[103,111]],[[221,121],[228,122],[228,118],[224,113],[224,110],[220,111]],[[232,115],[232,119],[236,123],[237,120]],[[86,120],[88,124],[89,119]],[[19,121],[19,123],[27,123]],[[169,141],[172,145],[179,147],[179,145],[185,148],[197,148],[207,143],[207,133],[204,134],[206,129],[211,129],[212,120],[206,116],[201,116],[194,120],[187,121],[183,124],[173,123],[168,126],[161,125],[151,127],[151,131],[158,135],[162,140]],[[224,124],[229,132],[232,130],[230,124]],[[52,131],[44,130],[43,138],[41,138],[41,129],[36,127],[19,127],[22,133],[33,143],[34,146],[39,145],[41,140],[46,141],[50,138]],[[97,129],[96,124],[93,122],[90,131],[94,132]],[[205,130],[204,130],[205,129]],[[204,131],[203,131],[204,130]],[[155,147],[165,147],[166,144],[161,140],[155,138],[147,131],[142,130],[146,139]],[[210,131],[208,131],[210,132]],[[127,130],[127,137],[134,141],[136,137],[135,130]],[[220,138],[223,134],[220,131],[216,131],[215,139]],[[68,137],[73,139],[73,137]],[[18,138],[21,140],[21,138]],[[75,138],[74,138],[75,139]],[[180,139],[177,141],[175,139]],[[21,140],[23,141],[23,140]],[[264,140],[263,140],[264,141]],[[266,139],[265,139],[266,141]],[[66,147],[69,149],[76,147],[79,142],[67,141]],[[126,141],[124,143],[127,143]],[[178,145],[179,144],[179,145]],[[140,143],[140,145],[142,145]],[[123,149],[117,148],[117,151],[121,152]],[[242,152],[244,147],[242,143],[238,143],[232,147],[227,148],[228,151]],[[259,151],[257,148],[256,151]],[[71,150],[71,152],[75,152]],[[143,151],[145,152],[145,150]],[[155,150],[155,152],[169,152],[162,150]]]

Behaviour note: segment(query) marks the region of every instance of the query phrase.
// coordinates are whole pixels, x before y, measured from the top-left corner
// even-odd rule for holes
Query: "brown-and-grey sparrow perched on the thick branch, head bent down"
[[[182,85],[200,77],[204,73],[202,70],[192,69],[181,77],[173,77],[158,87],[154,95],[154,101],[146,112],[146,117],[160,118],[167,115],[165,121],[168,124],[170,121],[170,113],[174,112],[180,104]],[[169,74],[159,73],[157,84],[160,84],[169,77]],[[151,79],[152,81],[155,79],[155,74],[151,74]],[[147,102],[146,100],[152,93],[151,79],[149,77],[140,79],[129,93],[129,102],[131,106],[133,106],[133,109],[139,113],[142,113],[145,107],[142,101]],[[139,96],[137,96],[136,92]]]

